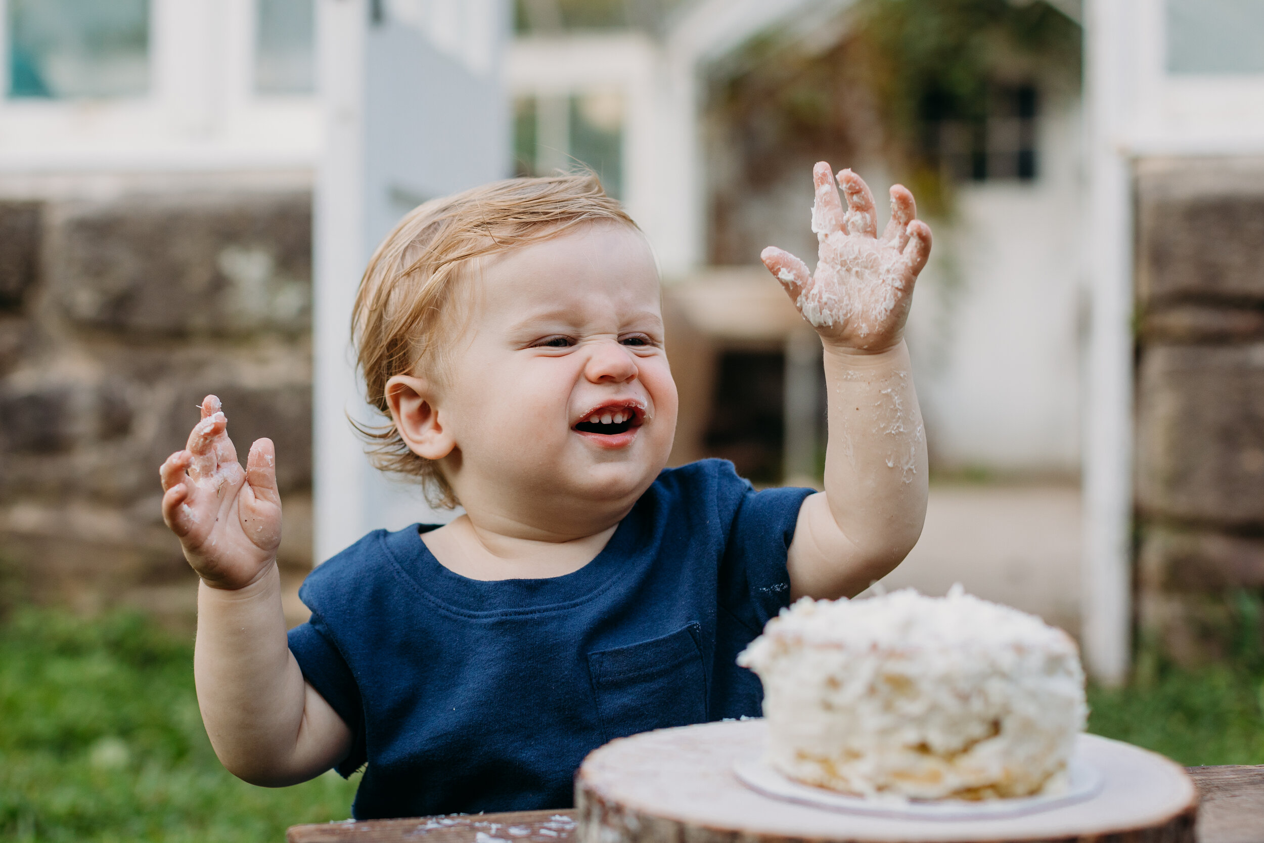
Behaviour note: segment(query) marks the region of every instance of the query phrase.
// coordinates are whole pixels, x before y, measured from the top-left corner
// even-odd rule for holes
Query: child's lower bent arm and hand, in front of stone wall
[[[346,757],[351,732],[303,681],[286,640],[277,546],[281,495],[272,440],[245,470],[220,402],[207,396],[186,450],[162,466],[162,513],[202,578],[193,675],[211,746],[233,775],[292,785]]]

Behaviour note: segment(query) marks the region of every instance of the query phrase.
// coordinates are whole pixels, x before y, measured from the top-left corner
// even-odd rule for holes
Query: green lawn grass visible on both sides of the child
[[[1243,664],[1091,689],[1090,731],[1186,765],[1264,763],[1264,670]],[[142,616],[25,609],[0,626],[0,840],[279,843],[346,818],[354,790],[334,773],[282,790],[230,776],[202,731],[191,642]]]

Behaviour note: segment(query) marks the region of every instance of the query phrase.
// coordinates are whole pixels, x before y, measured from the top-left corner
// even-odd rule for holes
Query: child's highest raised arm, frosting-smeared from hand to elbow
[[[914,219],[913,195],[896,186],[878,238],[873,196],[860,176],[838,174],[846,212],[829,164],[817,164],[813,178],[815,276],[781,249],[762,258],[820,334],[829,393],[825,492],[799,514],[787,560],[791,598],[837,598],[884,576],[921,535],[927,439],[904,322],[930,229]]]

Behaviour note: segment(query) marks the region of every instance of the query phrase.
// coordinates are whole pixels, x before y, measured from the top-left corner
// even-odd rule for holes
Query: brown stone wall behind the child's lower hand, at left
[[[283,570],[311,566],[311,193],[0,201],[0,588],[187,614],[158,465],[210,392],[277,444]]]

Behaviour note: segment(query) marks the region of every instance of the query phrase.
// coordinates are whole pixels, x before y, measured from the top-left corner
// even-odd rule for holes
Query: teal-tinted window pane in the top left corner
[[[149,88],[148,0],[9,0],[10,97]]]

